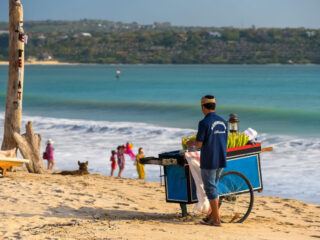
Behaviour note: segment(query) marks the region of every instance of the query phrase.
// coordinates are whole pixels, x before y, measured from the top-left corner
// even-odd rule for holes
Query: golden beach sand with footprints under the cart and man
[[[320,239],[320,205],[255,195],[249,218],[211,227],[180,217],[164,186],[97,174],[0,178],[0,239]]]

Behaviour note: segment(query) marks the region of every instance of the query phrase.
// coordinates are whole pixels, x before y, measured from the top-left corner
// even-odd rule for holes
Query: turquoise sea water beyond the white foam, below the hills
[[[1,103],[7,75],[1,66]],[[26,114],[196,128],[208,93],[225,118],[238,113],[242,129],[320,133],[318,65],[26,66],[25,75]]]

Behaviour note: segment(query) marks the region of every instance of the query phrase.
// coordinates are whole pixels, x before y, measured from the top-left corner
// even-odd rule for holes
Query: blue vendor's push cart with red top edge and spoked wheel
[[[218,183],[223,222],[243,222],[253,207],[254,191],[262,192],[260,153],[261,143],[228,149],[227,167]],[[140,161],[164,167],[166,201],[180,203],[182,215],[187,214],[186,204],[198,202],[196,185],[183,152],[165,152]]]

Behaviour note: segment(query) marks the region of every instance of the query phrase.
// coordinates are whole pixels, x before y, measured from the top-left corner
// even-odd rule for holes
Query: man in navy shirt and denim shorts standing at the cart
[[[199,122],[196,140],[187,142],[187,145],[201,148],[201,178],[211,206],[211,214],[201,223],[220,227],[217,183],[222,168],[226,167],[228,123],[215,113],[214,96],[202,97],[201,109],[205,117]]]

